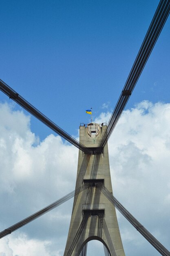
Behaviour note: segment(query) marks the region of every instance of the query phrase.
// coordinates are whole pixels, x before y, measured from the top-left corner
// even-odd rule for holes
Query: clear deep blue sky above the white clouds
[[[86,109],[92,107],[94,118],[108,120],[158,3],[2,0],[0,78],[66,132],[77,136],[79,124],[90,121]],[[169,31],[170,18],[128,101],[127,111],[144,100],[170,103]],[[0,93],[0,103],[5,102],[12,100]],[[14,105],[11,111],[15,110],[21,108]],[[24,115],[29,114],[24,111]],[[135,125],[135,120],[129,122]],[[40,141],[53,134],[34,117],[28,126]]]

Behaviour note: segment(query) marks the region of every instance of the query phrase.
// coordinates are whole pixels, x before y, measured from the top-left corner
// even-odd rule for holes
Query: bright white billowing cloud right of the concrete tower
[[[102,121],[103,115],[109,120],[110,113],[102,113],[98,122]],[[170,104],[143,101],[135,108],[124,111],[108,147],[115,196],[170,249]],[[119,213],[118,218],[121,218]],[[136,235],[124,220],[121,221],[125,247],[132,240],[134,248],[139,243],[137,249],[146,246],[150,249],[148,242]],[[133,238],[134,234],[136,238]],[[155,249],[150,254],[148,251],[144,253],[144,250],[142,253],[159,255]],[[130,252],[130,255],[135,254]]]

